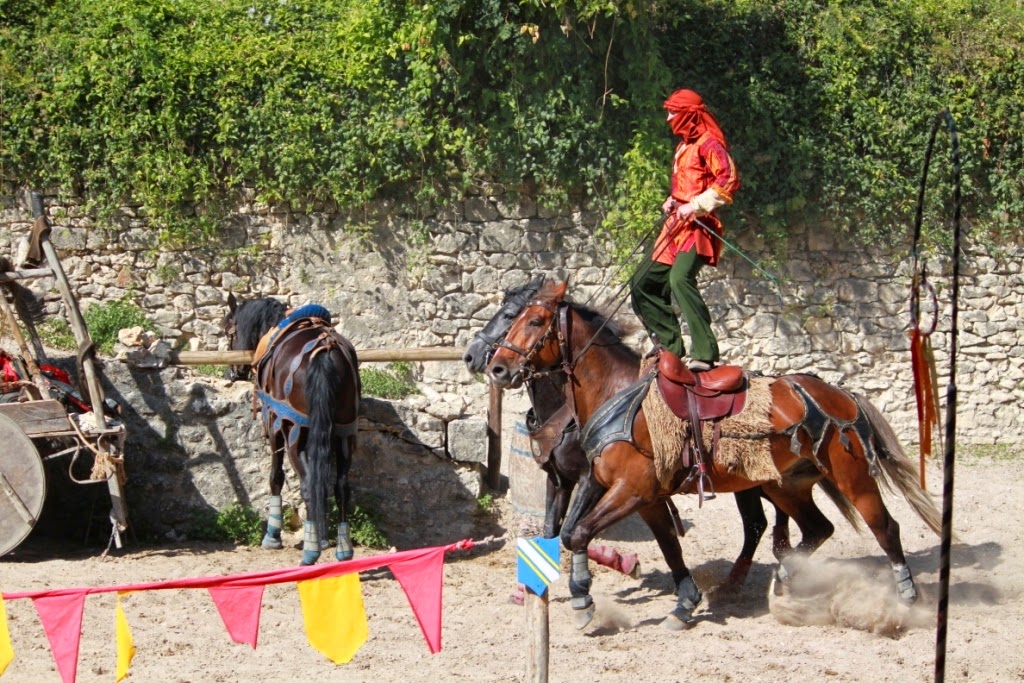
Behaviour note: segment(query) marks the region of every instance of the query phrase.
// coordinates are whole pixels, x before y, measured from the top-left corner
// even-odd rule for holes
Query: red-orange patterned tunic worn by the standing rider
[[[711,187],[732,203],[732,196],[739,189],[736,165],[721,140],[705,132],[692,143],[680,142],[672,163],[672,197],[677,202],[689,202]],[[722,222],[715,213],[700,216],[700,222],[722,233]],[[716,240],[693,220],[685,222],[670,214],[662,225],[662,233],[654,245],[654,260],[672,265],[676,255],[686,252],[693,245],[710,265],[718,265],[722,241]],[[663,248],[664,247],[664,248]]]

